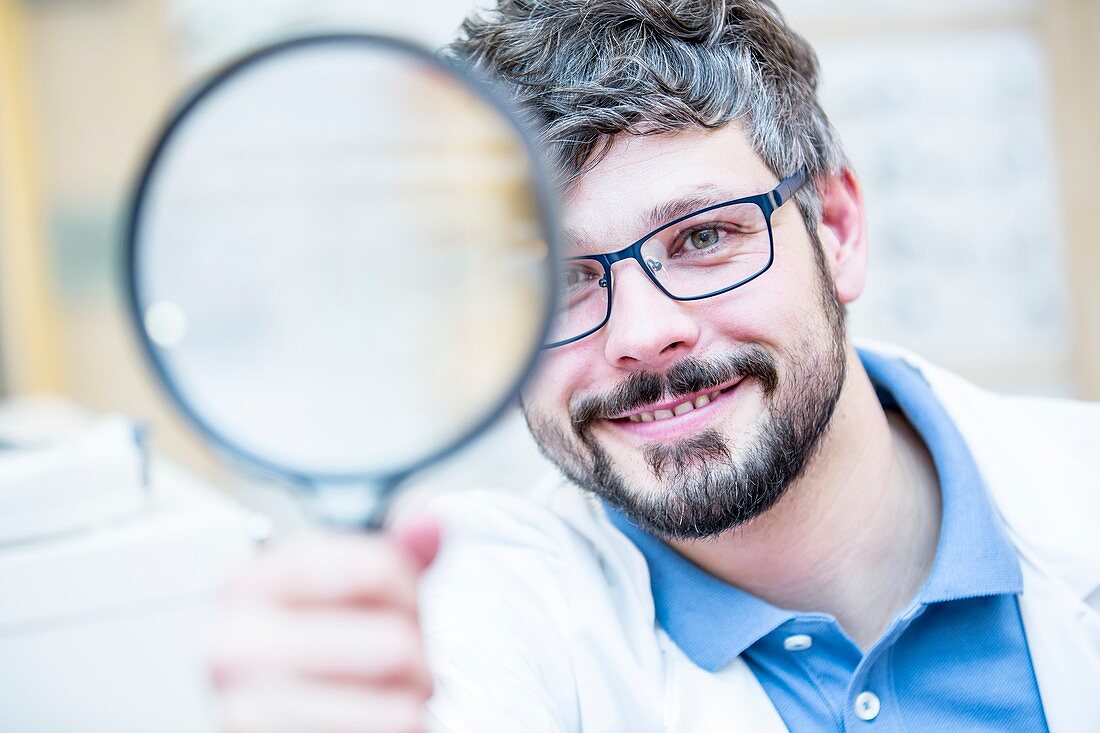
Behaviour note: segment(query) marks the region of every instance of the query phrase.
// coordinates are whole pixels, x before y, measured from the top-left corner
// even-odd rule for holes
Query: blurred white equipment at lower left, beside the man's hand
[[[122,418],[22,403],[0,436],[0,731],[212,732],[216,592],[263,521],[162,462],[146,488]]]

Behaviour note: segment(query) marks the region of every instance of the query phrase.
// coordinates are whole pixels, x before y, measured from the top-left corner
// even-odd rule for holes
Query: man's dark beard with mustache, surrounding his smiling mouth
[[[823,264],[818,261],[820,270]],[[810,462],[845,382],[844,307],[827,274],[820,275],[828,329],[824,339],[817,338],[827,340],[827,348],[817,353],[813,336],[807,335],[798,352],[787,354],[790,369],[782,383],[772,355],[755,344],[717,361],[684,359],[666,374],[634,373],[610,393],[572,406],[572,438],[525,411],[540,450],[582,489],[606,500],[641,528],[666,538],[710,537],[767,512]],[[741,445],[730,445],[717,430],[707,429],[683,440],[645,446],[648,468],[663,485],[652,494],[632,491],[592,435],[596,420],[660,400],[704,392],[737,376],[754,379],[763,389],[759,434],[746,436]]]

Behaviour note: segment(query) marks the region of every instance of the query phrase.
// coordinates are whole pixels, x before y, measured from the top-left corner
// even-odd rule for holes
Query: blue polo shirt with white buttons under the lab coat
[[[909,606],[865,654],[832,615],[729,586],[607,507],[646,557],[657,621],[703,669],[743,657],[795,733],[1046,731],[1018,604],[1020,564],[978,467],[920,372],[869,352],[860,359],[939,477],[936,557]]]

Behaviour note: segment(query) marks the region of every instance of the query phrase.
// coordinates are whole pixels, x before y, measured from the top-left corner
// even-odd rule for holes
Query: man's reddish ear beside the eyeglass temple
[[[867,216],[864,189],[856,174],[843,168],[821,179],[822,220],[818,234],[836,296],[847,305],[859,297],[867,281]]]

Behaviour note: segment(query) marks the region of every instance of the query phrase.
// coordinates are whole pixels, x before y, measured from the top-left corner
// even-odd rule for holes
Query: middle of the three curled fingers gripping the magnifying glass
[[[215,683],[302,678],[402,687],[431,696],[420,628],[408,614],[241,608],[224,614],[210,646]]]

